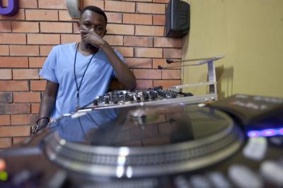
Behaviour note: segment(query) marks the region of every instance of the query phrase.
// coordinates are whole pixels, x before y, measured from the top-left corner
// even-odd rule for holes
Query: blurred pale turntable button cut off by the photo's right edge
[[[283,187],[283,166],[271,160],[260,164],[260,174],[267,182],[272,182],[278,187]]]

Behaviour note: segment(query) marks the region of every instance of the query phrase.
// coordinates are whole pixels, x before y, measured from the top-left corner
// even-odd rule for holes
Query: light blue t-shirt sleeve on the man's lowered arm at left
[[[58,83],[58,79],[55,72],[56,64],[57,50],[56,47],[53,47],[47,59],[45,60],[45,64],[43,64],[39,75],[47,79],[48,81]]]

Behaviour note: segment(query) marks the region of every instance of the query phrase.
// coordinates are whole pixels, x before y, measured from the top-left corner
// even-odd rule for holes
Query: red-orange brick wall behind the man
[[[181,57],[182,41],[164,37],[167,3],[83,1],[83,6],[96,5],[107,13],[105,39],[123,54],[137,77],[138,88],[180,84],[180,69],[157,69],[158,64],[166,64],[167,57]],[[0,16],[0,148],[30,135],[45,88],[38,73],[50,49],[80,39],[65,0],[19,0],[19,4],[16,16]]]

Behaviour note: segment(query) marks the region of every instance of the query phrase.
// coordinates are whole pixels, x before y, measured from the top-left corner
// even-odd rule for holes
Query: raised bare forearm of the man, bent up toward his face
[[[121,61],[117,54],[113,51],[112,47],[105,42],[105,45],[100,46],[105,52],[110,61],[118,80],[127,88],[127,90],[133,90],[136,88],[136,78],[132,71]]]

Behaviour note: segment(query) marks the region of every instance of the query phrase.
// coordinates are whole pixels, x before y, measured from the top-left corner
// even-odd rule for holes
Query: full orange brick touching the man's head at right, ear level
[[[134,35],[134,25],[108,24],[108,34]]]

